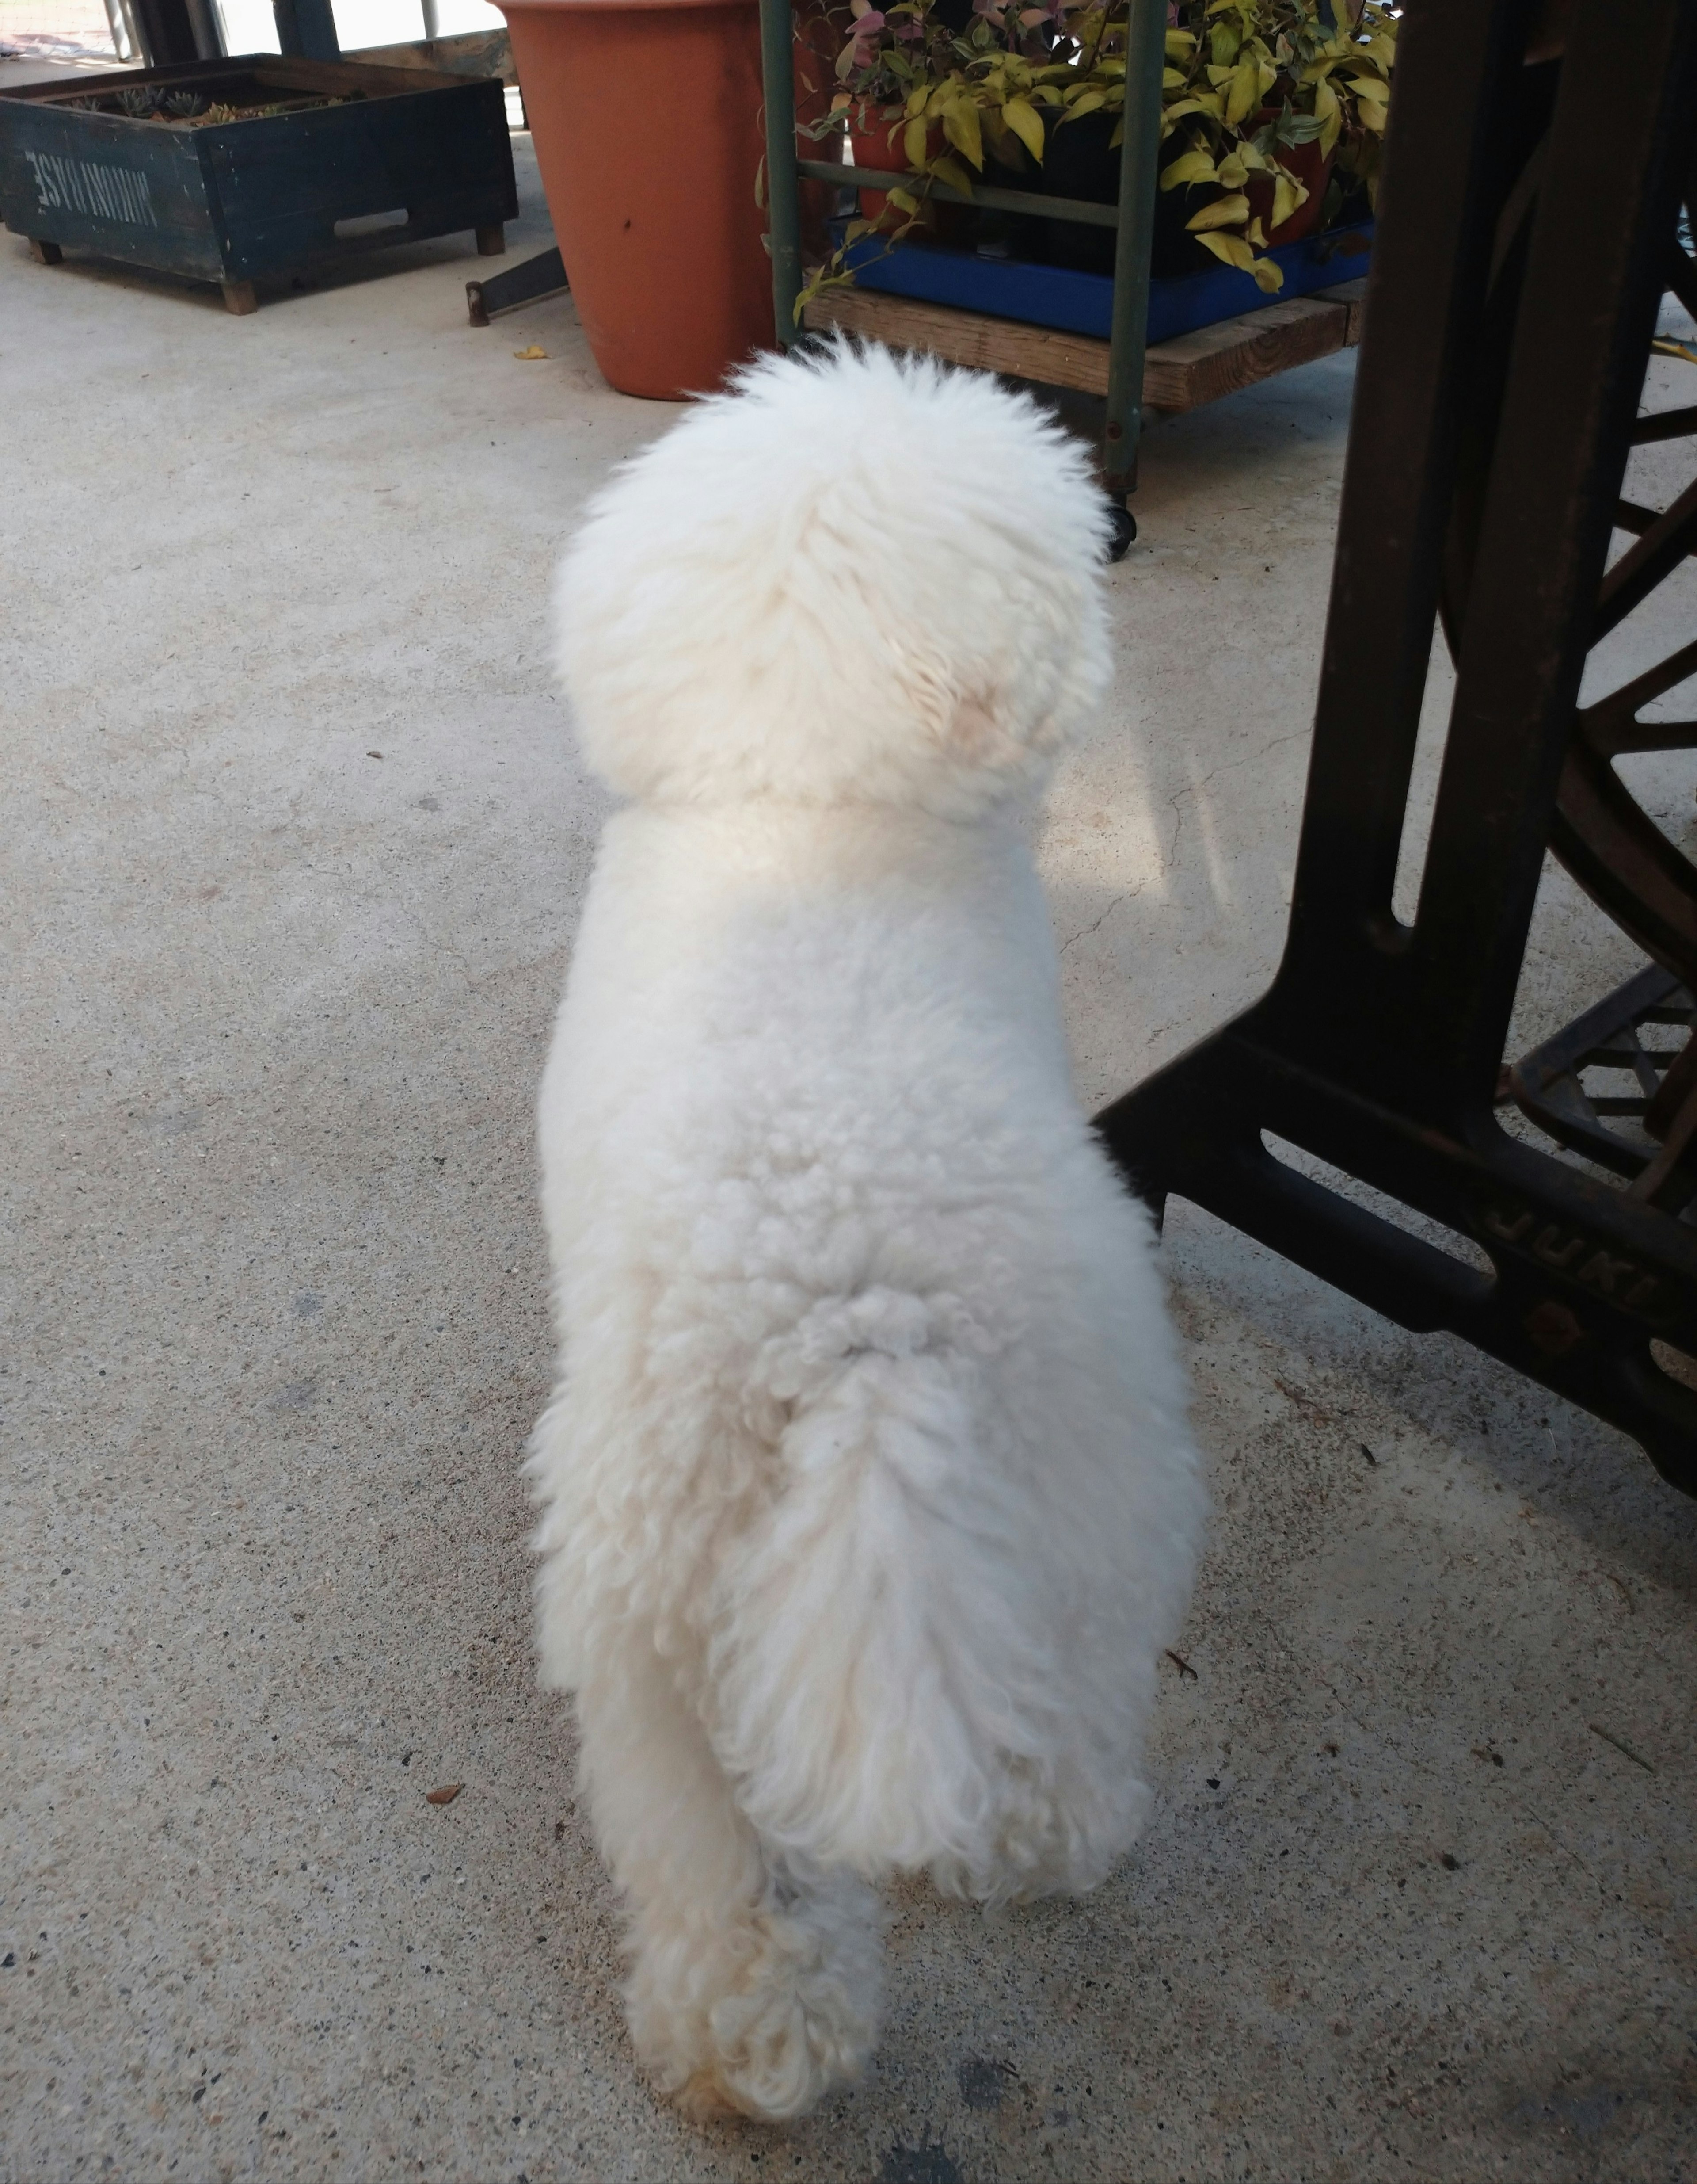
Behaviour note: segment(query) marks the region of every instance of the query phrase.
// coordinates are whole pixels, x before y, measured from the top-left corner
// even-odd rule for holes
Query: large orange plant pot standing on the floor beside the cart
[[[677,402],[773,345],[758,0],[498,0],[596,365]]]

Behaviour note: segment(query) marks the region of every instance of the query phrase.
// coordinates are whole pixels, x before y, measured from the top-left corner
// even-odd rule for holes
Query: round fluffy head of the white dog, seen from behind
[[[1105,688],[1105,537],[1083,448],[992,378],[847,343],[751,365],[566,555],[585,756],[646,799],[983,810]]]

